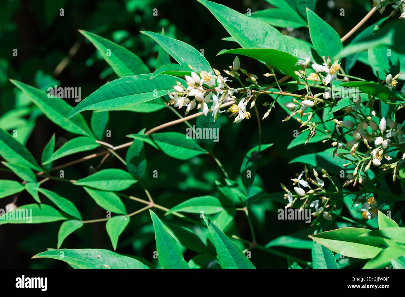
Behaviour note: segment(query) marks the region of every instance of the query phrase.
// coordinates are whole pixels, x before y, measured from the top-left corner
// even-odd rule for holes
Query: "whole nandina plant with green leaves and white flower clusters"
[[[198,2],[212,27],[188,34],[213,55],[167,24],[89,25],[54,77],[6,73],[0,231],[52,226],[21,240],[43,268],[405,268],[405,1],[365,4],[342,38],[315,0]],[[75,55],[109,65],[83,100],[59,76]]]

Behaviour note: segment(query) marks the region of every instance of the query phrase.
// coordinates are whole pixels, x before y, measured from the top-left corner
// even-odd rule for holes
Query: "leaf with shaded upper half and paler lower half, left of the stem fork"
[[[76,137],[68,142],[66,142],[64,145],[60,147],[59,150],[54,152],[52,156],[43,162],[43,164],[48,164],[50,162],[53,162],[55,160],[58,160],[60,158],[63,158],[65,156],[69,156],[71,154],[76,154],[78,152],[85,152],[85,151],[90,151],[94,150],[95,148],[99,147],[100,145],[96,143],[94,138],[90,137]]]

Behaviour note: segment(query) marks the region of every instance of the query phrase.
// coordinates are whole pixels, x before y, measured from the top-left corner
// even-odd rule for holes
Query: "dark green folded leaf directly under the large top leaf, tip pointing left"
[[[235,48],[231,50],[222,50],[217,55],[222,54],[235,54],[251,57],[263,61],[268,65],[273,65],[273,67],[276,67],[292,78],[298,79],[298,76],[294,73],[294,69],[299,69],[297,66],[294,66],[298,59],[283,51],[271,48]]]

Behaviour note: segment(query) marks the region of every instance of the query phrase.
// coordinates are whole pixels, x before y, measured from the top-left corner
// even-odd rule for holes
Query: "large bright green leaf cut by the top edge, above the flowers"
[[[274,48],[290,54],[290,42],[275,27],[224,5],[199,0],[243,48]]]

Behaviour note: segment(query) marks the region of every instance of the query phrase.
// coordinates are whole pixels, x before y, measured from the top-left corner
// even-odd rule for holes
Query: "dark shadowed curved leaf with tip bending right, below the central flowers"
[[[263,152],[264,150],[268,149],[272,145],[273,145],[273,143],[262,144],[260,146],[256,145],[255,147],[250,149],[249,152],[247,152],[247,154],[243,158],[243,161],[241,164],[241,169],[239,172],[241,173],[241,179],[242,179],[243,185],[245,186],[245,189],[249,189],[249,187],[251,187],[251,185],[254,181],[254,178],[256,176],[257,165],[261,158],[260,153]],[[259,147],[260,147],[260,152],[259,152]],[[249,177],[247,177],[249,174],[248,170],[250,171]]]

